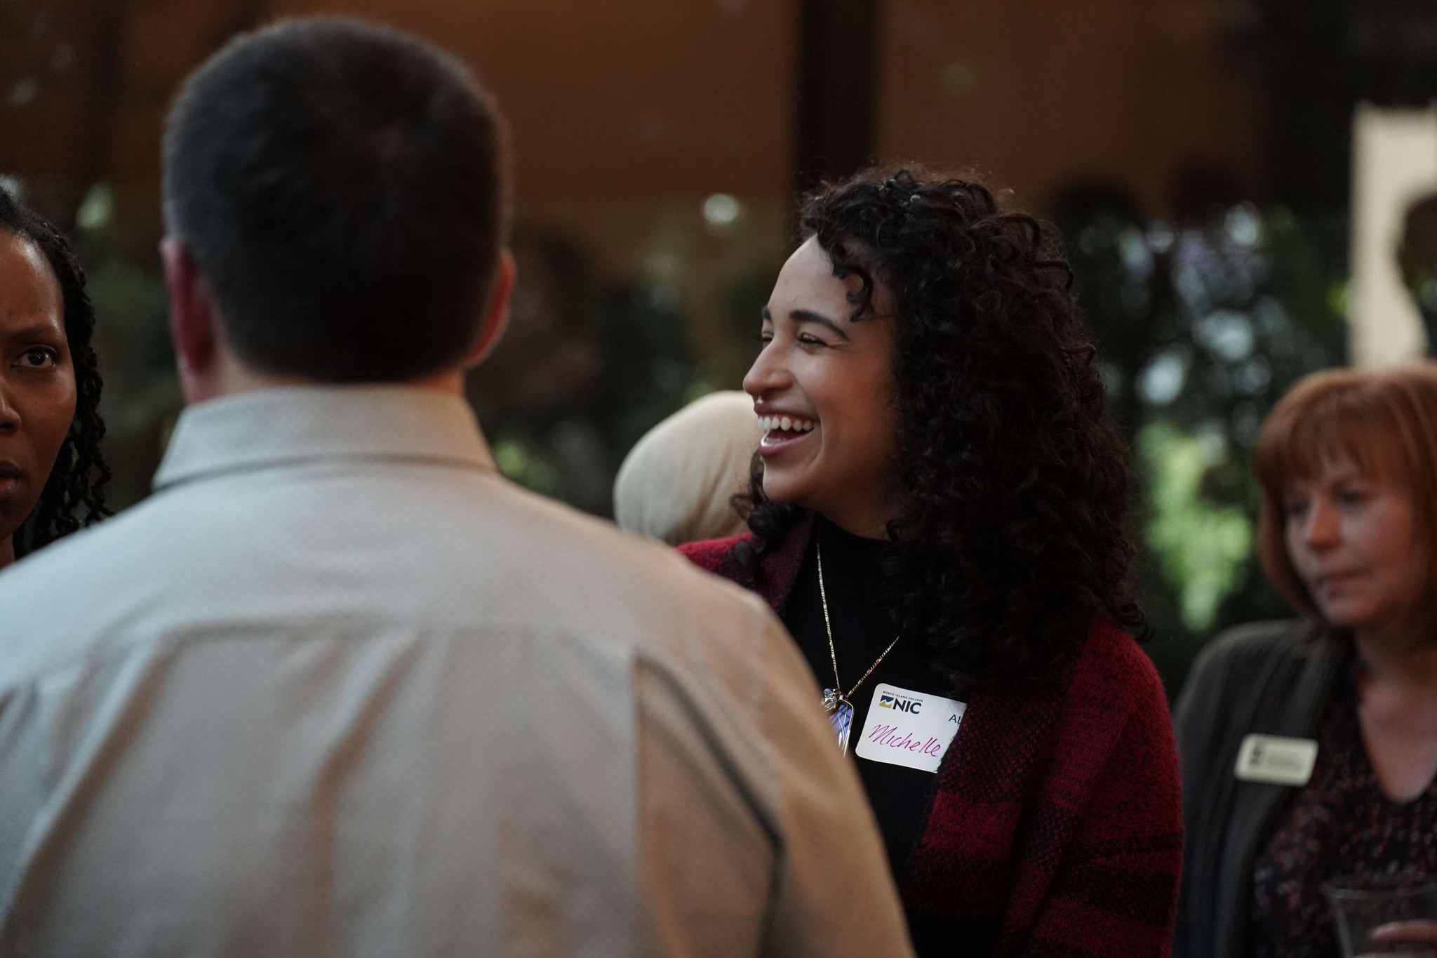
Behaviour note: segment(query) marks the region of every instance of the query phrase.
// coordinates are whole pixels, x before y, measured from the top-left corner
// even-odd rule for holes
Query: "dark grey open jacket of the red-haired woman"
[[[1344,669],[1346,643],[1315,622],[1246,625],[1213,639],[1193,665],[1174,712],[1188,846],[1178,902],[1177,958],[1246,958],[1253,862],[1292,786],[1239,781],[1249,733],[1316,738]]]

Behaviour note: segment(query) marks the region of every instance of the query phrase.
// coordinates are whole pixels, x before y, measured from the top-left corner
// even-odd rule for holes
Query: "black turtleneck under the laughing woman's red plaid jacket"
[[[833,662],[828,649],[818,589],[819,544],[823,546],[823,583],[828,590],[829,619],[833,625],[838,675],[846,692],[897,635],[892,615],[879,595],[882,557],[887,550],[897,546],[885,540],[854,536],[822,516],[818,517],[813,539],[782,618],[803,651],[821,688],[833,687]],[[874,688],[884,682],[914,692],[946,697],[951,697],[953,692],[930,668],[927,649],[910,636],[902,636],[874,674],[849,695],[854,704],[854,728],[848,754],[858,766],[858,776],[878,819],[888,850],[888,865],[894,876],[900,878],[933,804],[937,776],[905,766],[858,758],[854,754],[868,720]],[[822,704],[815,701],[813,708],[822,708]]]

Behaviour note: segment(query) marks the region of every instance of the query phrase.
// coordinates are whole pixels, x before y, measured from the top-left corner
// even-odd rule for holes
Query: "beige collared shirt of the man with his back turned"
[[[0,573],[0,955],[905,955],[782,626],[460,399],[188,409]]]

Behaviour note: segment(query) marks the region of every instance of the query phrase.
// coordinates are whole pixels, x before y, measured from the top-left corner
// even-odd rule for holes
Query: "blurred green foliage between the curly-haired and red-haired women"
[[[1148,652],[1175,695],[1217,631],[1290,615],[1256,563],[1252,452],[1296,379],[1345,362],[1346,217],[1239,203],[1164,223],[1104,187],[1052,214],[1132,442]]]

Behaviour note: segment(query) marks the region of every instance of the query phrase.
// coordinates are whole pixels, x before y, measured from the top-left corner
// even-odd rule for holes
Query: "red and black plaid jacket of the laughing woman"
[[[810,534],[800,524],[763,559],[757,592],[775,610]],[[740,539],[681,552],[741,582]],[[948,954],[1144,958],[1168,954],[1181,857],[1163,685],[1101,622],[1055,679],[973,691],[898,883],[920,949],[940,935]]]

